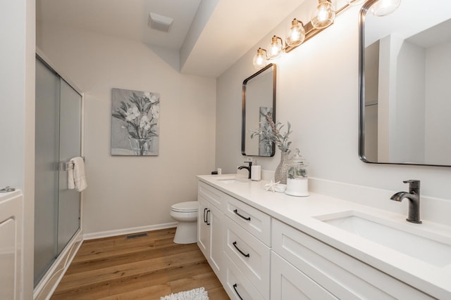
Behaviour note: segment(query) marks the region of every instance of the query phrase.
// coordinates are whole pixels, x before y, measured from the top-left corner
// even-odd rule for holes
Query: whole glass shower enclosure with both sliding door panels
[[[50,278],[47,274],[54,272],[51,268],[58,257],[73,247],[73,239],[80,233],[80,193],[68,190],[67,162],[82,156],[82,93],[39,55],[36,56],[35,105],[34,281],[37,287]]]

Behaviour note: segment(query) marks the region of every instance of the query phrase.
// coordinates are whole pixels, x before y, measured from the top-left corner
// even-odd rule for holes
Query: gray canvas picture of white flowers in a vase
[[[160,95],[113,89],[111,155],[158,155]]]

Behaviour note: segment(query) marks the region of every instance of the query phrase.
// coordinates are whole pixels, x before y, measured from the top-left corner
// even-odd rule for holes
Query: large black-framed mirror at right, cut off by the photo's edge
[[[451,166],[451,1],[403,0],[360,15],[359,156]]]

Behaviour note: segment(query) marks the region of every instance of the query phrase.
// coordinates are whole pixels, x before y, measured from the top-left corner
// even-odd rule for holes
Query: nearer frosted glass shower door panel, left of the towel
[[[57,255],[59,84],[58,74],[36,60],[35,285]]]

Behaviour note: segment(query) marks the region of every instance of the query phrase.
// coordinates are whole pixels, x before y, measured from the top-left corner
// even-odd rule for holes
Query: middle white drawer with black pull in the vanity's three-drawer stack
[[[271,249],[228,217],[225,226],[224,251],[254,287],[268,298]]]

